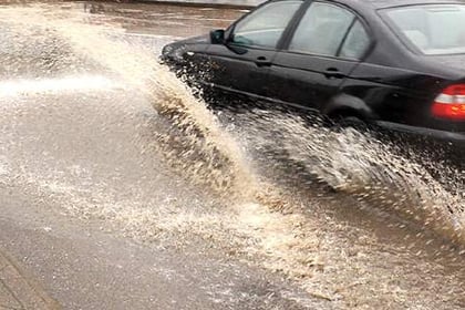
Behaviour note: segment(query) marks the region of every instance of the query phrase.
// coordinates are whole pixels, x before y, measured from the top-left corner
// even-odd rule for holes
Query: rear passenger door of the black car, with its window
[[[311,2],[273,60],[270,95],[299,107],[321,111],[358,64],[341,53],[348,52],[343,49],[348,34],[360,25],[358,17],[342,6]],[[360,43],[364,48],[366,42]]]

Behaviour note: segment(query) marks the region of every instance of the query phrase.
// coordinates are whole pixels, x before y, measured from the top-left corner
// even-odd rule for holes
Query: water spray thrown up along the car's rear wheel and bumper
[[[268,157],[279,158],[276,165],[297,164],[293,173],[299,177],[307,174],[373,207],[415,221],[446,238],[464,241],[463,175],[459,172],[454,177],[447,175],[447,183],[456,186],[452,192],[451,186],[446,189],[425,166],[401,155],[396,145],[381,142],[370,133],[328,128],[318,120],[309,123],[280,112],[256,111],[238,122],[249,137],[248,144],[256,149],[268,149]],[[267,130],[270,127],[273,131]],[[275,147],[268,144],[270,141]]]

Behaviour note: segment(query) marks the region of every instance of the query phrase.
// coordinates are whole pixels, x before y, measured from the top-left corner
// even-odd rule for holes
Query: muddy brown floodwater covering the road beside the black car
[[[306,292],[282,297],[296,309],[465,308],[462,172],[281,112],[213,113],[157,62],[242,13],[0,7],[0,185],[278,275]]]

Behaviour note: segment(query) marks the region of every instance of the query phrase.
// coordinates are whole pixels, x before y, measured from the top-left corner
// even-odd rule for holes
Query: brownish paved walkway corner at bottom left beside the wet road
[[[0,310],[61,309],[0,249]]]

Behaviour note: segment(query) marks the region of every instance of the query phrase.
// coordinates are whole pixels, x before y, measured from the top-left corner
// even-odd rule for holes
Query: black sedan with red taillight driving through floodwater
[[[162,58],[206,89],[465,146],[465,1],[273,0]]]

